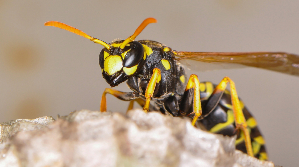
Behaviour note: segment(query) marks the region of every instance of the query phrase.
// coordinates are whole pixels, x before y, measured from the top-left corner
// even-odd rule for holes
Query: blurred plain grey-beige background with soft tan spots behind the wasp
[[[299,55],[299,1],[17,1],[0,0],[0,121],[99,110],[103,46],[54,27],[55,20],[109,43],[127,38],[147,17],[158,20],[136,38],[179,51],[285,51]],[[256,117],[277,165],[299,166],[299,77],[263,69],[191,71],[200,81],[232,78]],[[130,91],[126,84],[116,87]],[[128,103],[108,95],[108,109]],[[137,106],[137,105],[136,105]]]

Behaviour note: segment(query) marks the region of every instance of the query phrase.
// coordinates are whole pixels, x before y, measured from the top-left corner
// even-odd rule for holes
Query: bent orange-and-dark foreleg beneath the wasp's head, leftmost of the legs
[[[115,89],[106,88],[102,95],[101,105],[100,105],[100,111],[106,112],[107,111],[107,103],[106,103],[106,94],[109,93],[116,98],[124,101],[130,101],[139,98],[139,94],[135,92],[120,92]]]

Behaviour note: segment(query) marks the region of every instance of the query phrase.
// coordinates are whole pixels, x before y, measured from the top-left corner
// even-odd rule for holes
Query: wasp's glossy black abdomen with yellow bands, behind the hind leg
[[[202,102],[203,115],[204,113],[209,112],[205,111],[205,105],[210,100],[209,97],[212,94],[215,87],[216,85],[213,85],[211,82],[203,82],[200,84],[200,97]],[[257,121],[246,109],[242,100],[240,100],[240,104],[246,122],[248,124],[247,128],[250,132],[254,156],[259,158],[260,160],[267,160],[268,157],[265,148],[265,140],[263,139],[262,134],[258,129]],[[247,153],[243,132],[239,130],[235,131],[236,126],[231,105],[231,95],[228,90],[225,90],[223,96],[219,100],[219,103],[216,104],[215,109],[207,113],[205,117],[199,120],[199,123],[201,126],[205,128],[205,130],[209,132],[223,134],[227,136],[234,136],[237,134],[236,149],[241,150],[244,153]]]

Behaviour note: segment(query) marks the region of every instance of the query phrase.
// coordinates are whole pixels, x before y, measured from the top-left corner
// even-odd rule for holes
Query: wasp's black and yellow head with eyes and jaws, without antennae
[[[112,87],[139,72],[146,60],[146,53],[140,42],[132,41],[120,49],[122,42],[123,40],[109,44],[110,50],[103,48],[99,56],[103,77]]]

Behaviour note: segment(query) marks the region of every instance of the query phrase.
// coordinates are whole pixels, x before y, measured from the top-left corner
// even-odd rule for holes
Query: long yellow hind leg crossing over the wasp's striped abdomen
[[[228,82],[230,84],[230,89],[231,89],[231,103],[233,106],[236,128],[241,129],[243,131],[247,154],[254,157],[253,151],[252,151],[252,146],[251,146],[250,133],[247,129],[247,123],[246,123],[244,114],[242,112],[242,108],[241,108],[240,101],[239,101],[239,98],[237,95],[237,90],[236,90],[234,81],[232,81],[228,77],[224,77],[222,79],[222,81],[219,83],[219,85],[216,86],[212,95],[216,95],[216,94],[222,95],[223,92],[225,91],[225,88],[226,88]]]

